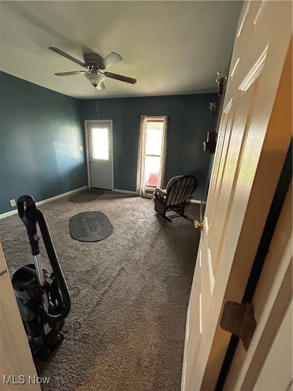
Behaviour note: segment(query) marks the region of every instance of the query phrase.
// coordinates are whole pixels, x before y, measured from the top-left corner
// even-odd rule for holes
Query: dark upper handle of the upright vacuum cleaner
[[[32,248],[32,254],[40,254],[39,249],[39,236],[37,233],[37,220],[33,216],[33,211],[36,209],[35,200],[31,195],[22,195],[17,200],[18,215],[25,225],[30,245]]]

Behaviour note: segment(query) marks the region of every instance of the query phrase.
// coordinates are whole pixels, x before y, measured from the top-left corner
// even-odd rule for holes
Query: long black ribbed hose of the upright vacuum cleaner
[[[63,321],[67,315],[70,312],[71,309],[71,299],[69,290],[65,281],[65,278],[63,276],[60,264],[58,262],[55,248],[52,242],[51,234],[48,228],[46,217],[44,216],[43,212],[40,209],[32,209],[30,213],[33,215],[33,217],[38,221],[42,238],[44,241],[44,245],[48,254],[49,261],[51,263],[54,276],[56,278],[56,282],[58,287],[60,288],[63,301],[64,301],[64,309],[61,314],[59,315],[51,315],[48,314],[42,307],[39,308],[39,315],[46,321],[54,321],[54,322],[61,322]]]

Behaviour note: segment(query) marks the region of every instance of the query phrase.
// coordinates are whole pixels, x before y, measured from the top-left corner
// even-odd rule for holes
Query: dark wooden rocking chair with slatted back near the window
[[[169,221],[171,217],[178,215],[187,218],[184,208],[196,184],[197,179],[193,175],[181,175],[170,179],[165,190],[157,187],[154,191],[155,211]],[[166,216],[167,211],[175,214]]]

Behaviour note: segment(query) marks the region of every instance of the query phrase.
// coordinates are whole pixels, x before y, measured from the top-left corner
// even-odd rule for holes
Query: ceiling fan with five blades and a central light
[[[98,90],[103,90],[105,88],[105,85],[103,83],[105,77],[125,81],[126,83],[131,83],[131,84],[136,83],[136,79],[133,79],[132,77],[122,76],[112,72],[102,72],[103,70],[109,68],[110,66],[122,60],[121,55],[113,51],[110,54],[108,54],[107,57],[105,57],[104,59],[99,54],[96,53],[85,53],[83,54],[84,63],[82,63],[81,61],[75,59],[70,54],[65,53],[64,51],[58,49],[57,47],[50,46],[49,49],[57,54],[63,55],[63,57],[66,57],[68,60],[73,61],[74,63],[80,65],[81,67],[89,69],[88,71],[54,73],[54,75],[56,76],[77,75],[83,73],[84,76],[90,81],[90,83]]]

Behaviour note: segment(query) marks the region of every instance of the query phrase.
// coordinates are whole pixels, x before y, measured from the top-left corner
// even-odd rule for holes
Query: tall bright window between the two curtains
[[[161,150],[163,137],[163,119],[147,119],[147,136],[145,144],[145,186],[155,188],[158,186]]]

